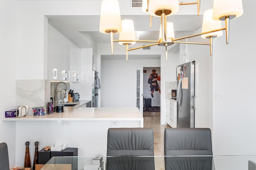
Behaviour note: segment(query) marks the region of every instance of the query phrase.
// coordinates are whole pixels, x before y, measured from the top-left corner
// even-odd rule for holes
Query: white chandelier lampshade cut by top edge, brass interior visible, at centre
[[[166,10],[166,16],[170,16],[178,12],[178,0],[150,0],[148,4],[148,12],[152,16],[161,16],[161,11]]]

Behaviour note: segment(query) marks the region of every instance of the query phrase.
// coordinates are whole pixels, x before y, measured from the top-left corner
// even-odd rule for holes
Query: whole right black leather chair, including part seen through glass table
[[[165,170],[212,170],[212,134],[209,128],[164,129]],[[190,156],[188,156],[190,155]],[[186,157],[188,156],[188,157]]]

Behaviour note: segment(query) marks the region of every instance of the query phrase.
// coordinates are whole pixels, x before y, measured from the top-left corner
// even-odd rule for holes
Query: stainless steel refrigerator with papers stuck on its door
[[[195,61],[177,67],[177,127],[195,127]]]

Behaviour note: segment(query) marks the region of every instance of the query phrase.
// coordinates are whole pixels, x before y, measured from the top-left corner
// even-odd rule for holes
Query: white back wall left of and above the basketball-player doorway
[[[101,107],[136,107],[136,66],[160,60],[101,60]]]

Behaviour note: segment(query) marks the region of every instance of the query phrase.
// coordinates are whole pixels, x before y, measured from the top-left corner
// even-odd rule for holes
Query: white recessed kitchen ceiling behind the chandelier
[[[194,2],[196,0],[182,0],[185,2]],[[152,28],[149,26],[149,15],[141,12],[137,14],[134,9],[126,8],[127,0],[119,0],[121,19],[130,19],[134,21],[134,30],[140,34],[140,40],[158,40],[160,30],[160,18],[152,18]],[[186,8],[180,6],[177,15],[167,17],[167,22],[174,23],[175,38],[180,38],[191,34],[193,31],[202,26],[202,18],[204,10],[212,8],[213,0],[201,0],[200,16],[197,16],[196,5],[186,5]],[[193,10],[193,14],[188,12],[188,9]],[[100,7],[99,7],[100,8]],[[182,9],[183,8],[183,9]],[[138,9],[138,8],[137,8]],[[122,14],[125,10],[126,15]],[[140,10],[140,9],[139,9]],[[182,11],[183,10],[183,11]],[[128,12],[127,12],[128,11]],[[138,10],[137,10],[138,11]],[[127,14],[129,13],[129,14]],[[134,14],[136,13],[136,15]],[[54,25],[60,32],[66,35],[70,40],[76,43],[81,48],[90,48],[91,45],[87,42],[93,40],[98,43],[110,43],[109,34],[99,32],[100,15],[86,16],[46,16],[48,22]],[[114,40],[118,40],[118,34],[114,34]],[[114,57],[114,56],[112,56]]]

